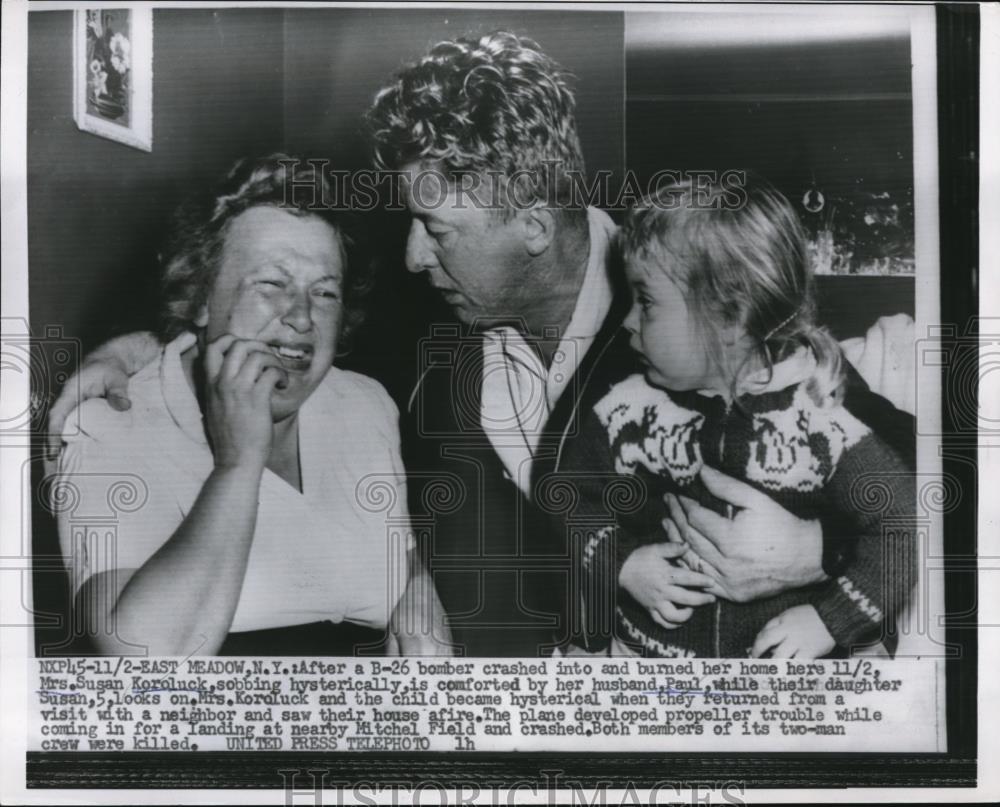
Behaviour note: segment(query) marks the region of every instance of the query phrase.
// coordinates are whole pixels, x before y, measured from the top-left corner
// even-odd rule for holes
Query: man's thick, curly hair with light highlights
[[[512,33],[441,42],[375,97],[366,115],[375,163],[426,162],[452,179],[496,172],[516,186],[507,202],[572,208],[567,172],[584,166],[571,79]]]

